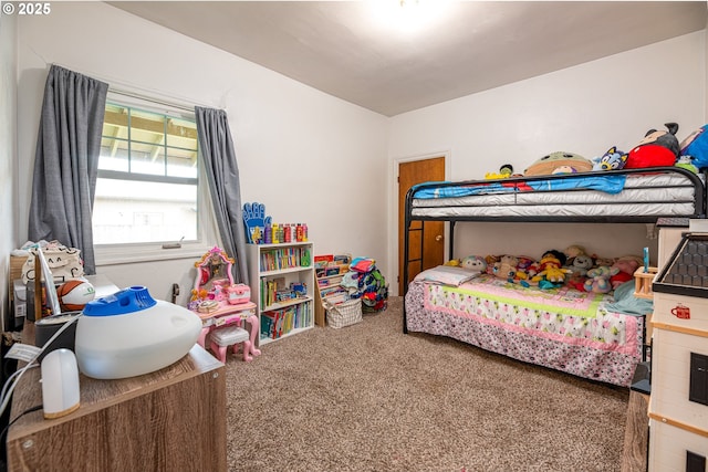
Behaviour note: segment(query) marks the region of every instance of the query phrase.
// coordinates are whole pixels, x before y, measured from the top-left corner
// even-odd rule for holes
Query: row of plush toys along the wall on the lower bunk
[[[600,258],[587,254],[580,245],[571,245],[563,251],[545,251],[539,261],[524,255],[469,255],[447,264],[486,272],[527,287],[546,290],[571,285],[580,291],[608,293],[634,279],[642,258]]]

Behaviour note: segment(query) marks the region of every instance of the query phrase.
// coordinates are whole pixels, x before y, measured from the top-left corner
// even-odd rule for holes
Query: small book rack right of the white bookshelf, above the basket
[[[315,280],[317,290],[315,291],[314,322],[317,326],[325,325],[325,308],[323,301],[331,304],[344,302],[348,298],[348,291],[341,286],[342,279],[350,270],[352,256],[345,255],[315,255]]]

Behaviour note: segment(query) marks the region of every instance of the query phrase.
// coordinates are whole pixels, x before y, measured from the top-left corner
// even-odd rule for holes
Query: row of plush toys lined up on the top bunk
[[[649,129],[628,153],[611,147],[603,156],[586,159],[574,153],[551,153],[529,166],[522,175],[513,172],[513,166],[504,164],[498,174],[489,172],[486,179],[508,177],[545,176],[552,174],[587,172],[591,170],[642,169],[647,167],[677,166],[698,172],[708,168],[708,125],[701,126],[678,141],[678,124],[666,123],[666,130]]]

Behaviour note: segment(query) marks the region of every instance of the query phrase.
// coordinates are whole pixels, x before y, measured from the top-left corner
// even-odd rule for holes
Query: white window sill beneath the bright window
[[[96,268],[106,265],[131,264],[136,262],[170,261],[179,259],[198,259],[208,252],[212,245],[204,243],[183,243],[181,248],[163,249],[162,244],[154,245],[114,245],[97,247],[94,250]]]

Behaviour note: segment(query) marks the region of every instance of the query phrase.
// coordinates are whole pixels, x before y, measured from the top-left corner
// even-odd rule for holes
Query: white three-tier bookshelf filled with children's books
[[[314,326],[311,242],[248,244],[251,301],[260,322],[259,345]]]

